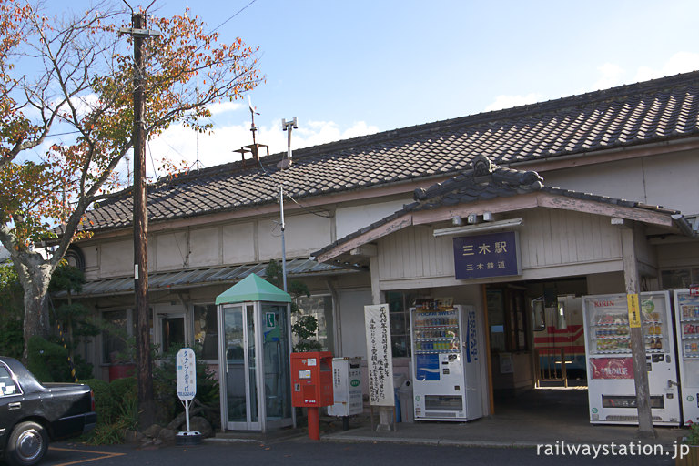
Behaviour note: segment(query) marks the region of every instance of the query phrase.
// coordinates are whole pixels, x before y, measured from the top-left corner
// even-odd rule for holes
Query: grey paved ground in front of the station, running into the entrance
[[[337,418],[321,418],[320,441],[299,427],[226,432],[187,447],[56,443],[42,465],[669,465],[686,432],[656,427],[655,438],[640,440],[635,426],[593,425],[586,390],[555,389],[498,400],[494,415],[471,422],[403,422],[395,431],[374,431],[365,412],[350,418],[348,431],[342,427]]]

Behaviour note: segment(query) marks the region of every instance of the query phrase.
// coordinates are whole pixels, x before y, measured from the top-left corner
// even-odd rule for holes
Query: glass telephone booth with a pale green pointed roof
[[[295,424],[291,407],[289,294],[250,274],[218,295],[222,431]]]

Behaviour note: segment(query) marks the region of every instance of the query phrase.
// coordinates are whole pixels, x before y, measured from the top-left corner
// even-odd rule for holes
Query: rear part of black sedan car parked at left
[[[48,442],[95,428],[95,397],[87,385],[40,383],[13,358],[0,356],[0,450],[12,466],[40,461]]]

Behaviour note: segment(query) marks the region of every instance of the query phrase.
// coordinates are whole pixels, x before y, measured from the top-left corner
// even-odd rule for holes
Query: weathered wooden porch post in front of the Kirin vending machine
[[[638,264],[633,243],[633,224],[621,228],[623,250],[623,279],[626,295],[638,297]],[[639,315],[640,319],[640,315]],[[643,326],[631,324],[631,355],[633,360],[633,380],[636,388],[636,406],[638,408],[638,434],[642,438],[655,437],[653,431],[653,413],[651,412],[651,392],[648,384],[648,369],[645,362],[645,343]]]

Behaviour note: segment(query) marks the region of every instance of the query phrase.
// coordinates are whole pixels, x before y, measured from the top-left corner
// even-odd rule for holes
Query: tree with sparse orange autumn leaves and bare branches
[[[70,243],[90,235],[88,208],[121,187],[117,167],[133,148],[135,126],[133,43],[117,34],[131,12],[101,2],[81,14],[66,5],[51,17],[43,4],[0,0],[0,242],[24,289],[25,361],[30,337],[49,333],[51,276]],[[218,42],[188,10],[148,16],[145,26],[161,33],[143,54],[147,108],[139,124],[147,139],[171,125],[210,131],[211,105],[262,81],[254,49],[239,38]],[[39,151],[49,132],[74,136]]]

